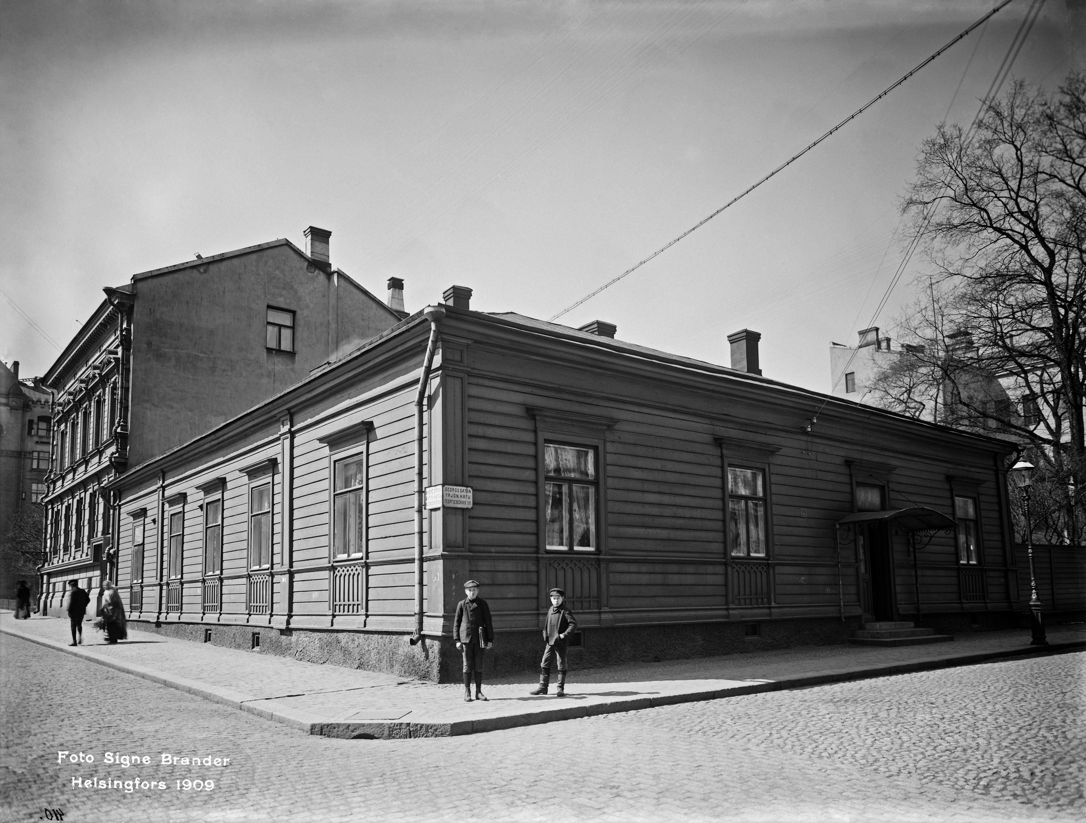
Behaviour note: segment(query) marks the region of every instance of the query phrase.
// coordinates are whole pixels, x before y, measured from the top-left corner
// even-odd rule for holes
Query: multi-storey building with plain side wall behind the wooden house
[[[46,608],[68,580],[112,574],[115,510],[102,485],[306,378],[400,320],[332,267],[329,231],[134,275],[50,367]],[[402,281],[390,304],[402,308]]]

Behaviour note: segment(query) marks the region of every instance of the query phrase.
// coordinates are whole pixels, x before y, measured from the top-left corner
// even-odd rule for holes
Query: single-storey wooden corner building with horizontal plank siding
[[[434,680],[472,578],[493,670],[554,585],[574,666],[1016,621],[1013,444],[469,299],[114,479],[131,619]]]

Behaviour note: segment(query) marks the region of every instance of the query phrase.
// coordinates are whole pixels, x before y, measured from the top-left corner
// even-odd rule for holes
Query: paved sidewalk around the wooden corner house
[[[68,623],[0,613],[11,634],[242,711],[328,737],[442,737],[647,709],[735,695],[801,688],[985,660],[1045,654],[1028,630],[978,632],[926,646],[816,646],[693,660],[624,663],[570,672],[567,697],[531,697],[531,673],[483,684],[489,702],[466,704],[463,685],[320,666],[286,657],[164,637],[129,628],[106,646],[71,647]],[[1086,625],[1053,626],[1049,650],[1086,648]]]

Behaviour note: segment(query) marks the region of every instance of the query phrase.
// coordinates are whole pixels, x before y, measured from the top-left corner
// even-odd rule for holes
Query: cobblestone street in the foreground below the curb
[[[304,735],[15,637],[0,655],[4,820],[989,821],[1086,806],[1082,653],[406,740]]]

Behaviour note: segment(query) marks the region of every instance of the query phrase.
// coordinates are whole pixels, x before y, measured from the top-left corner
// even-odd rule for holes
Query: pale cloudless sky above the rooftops
[[[310,225],[408,311],[458,284],[548,319],[995,4],[4,0],[0,358],[45,373],[102,287]],[[1030,4],[560,322],[723,365],[754,329],[766,376],[829,391],[831,341],[893,334],[925,270],[875,315],[921,141],[972,121]],[[1084,21],[1047,0],[1011,78],[1083,68]]]

